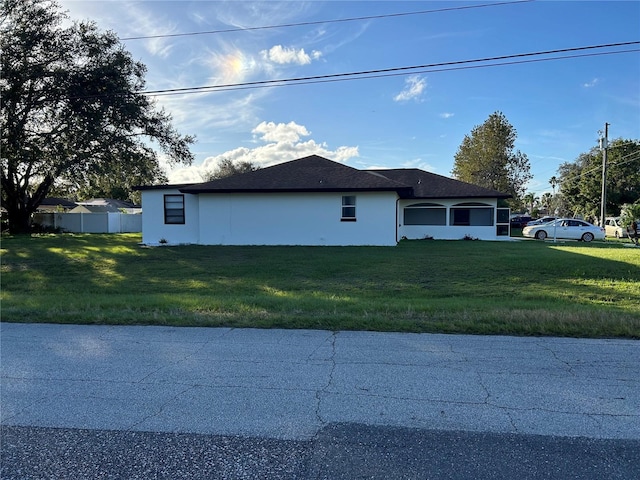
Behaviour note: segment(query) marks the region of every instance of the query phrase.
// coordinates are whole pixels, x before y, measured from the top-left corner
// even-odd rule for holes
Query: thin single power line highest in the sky
[[[345,22],[357,22],[363,20],[375,20],[380,18],[394,18],[394,17],[407,17],[410,15],[426,15],[429,13],[440,13],[440,12],[450,12],[455,10],[470,10],[474,8],[485,8],[485,7],[498,7],[504,5],[514,5],[519,3],[530,3],[535,2],[536,0],[516,0],[510,2],[499,2],[499,3],[485,3],[480,5],[463,5],[458,7],[447,7],[447,8],[438,8],[433,10],[420,10],[417,12],[401,12],[401,13],[387,13],[383,15],[369,15],[365,17],[351,17],[351,18],[337,18],[333,20],[316,20],[313,22],[300,22],[300,23],[283,23],[280,25],[265,25],[260,27],[239,27],[239,28],[228,28],[224,30],[208,30],[203,32],[187,32],[187,33],[169,33],[163,35],[144,35],[138,37],[124,37],[121,38],[121,41],[126,40],[148,40],[153,38],[172,38],[172,37],[187,37],[187,36],[196,36],[196,35],[215,35],[219,33],[232,33],[232,32],[247,32],[252,30],[267,30],[273,28],[288,28],[288,27],[303,27],[303,26],[311,26],[311,25],[323,25],[326,23],[345,23]]]

